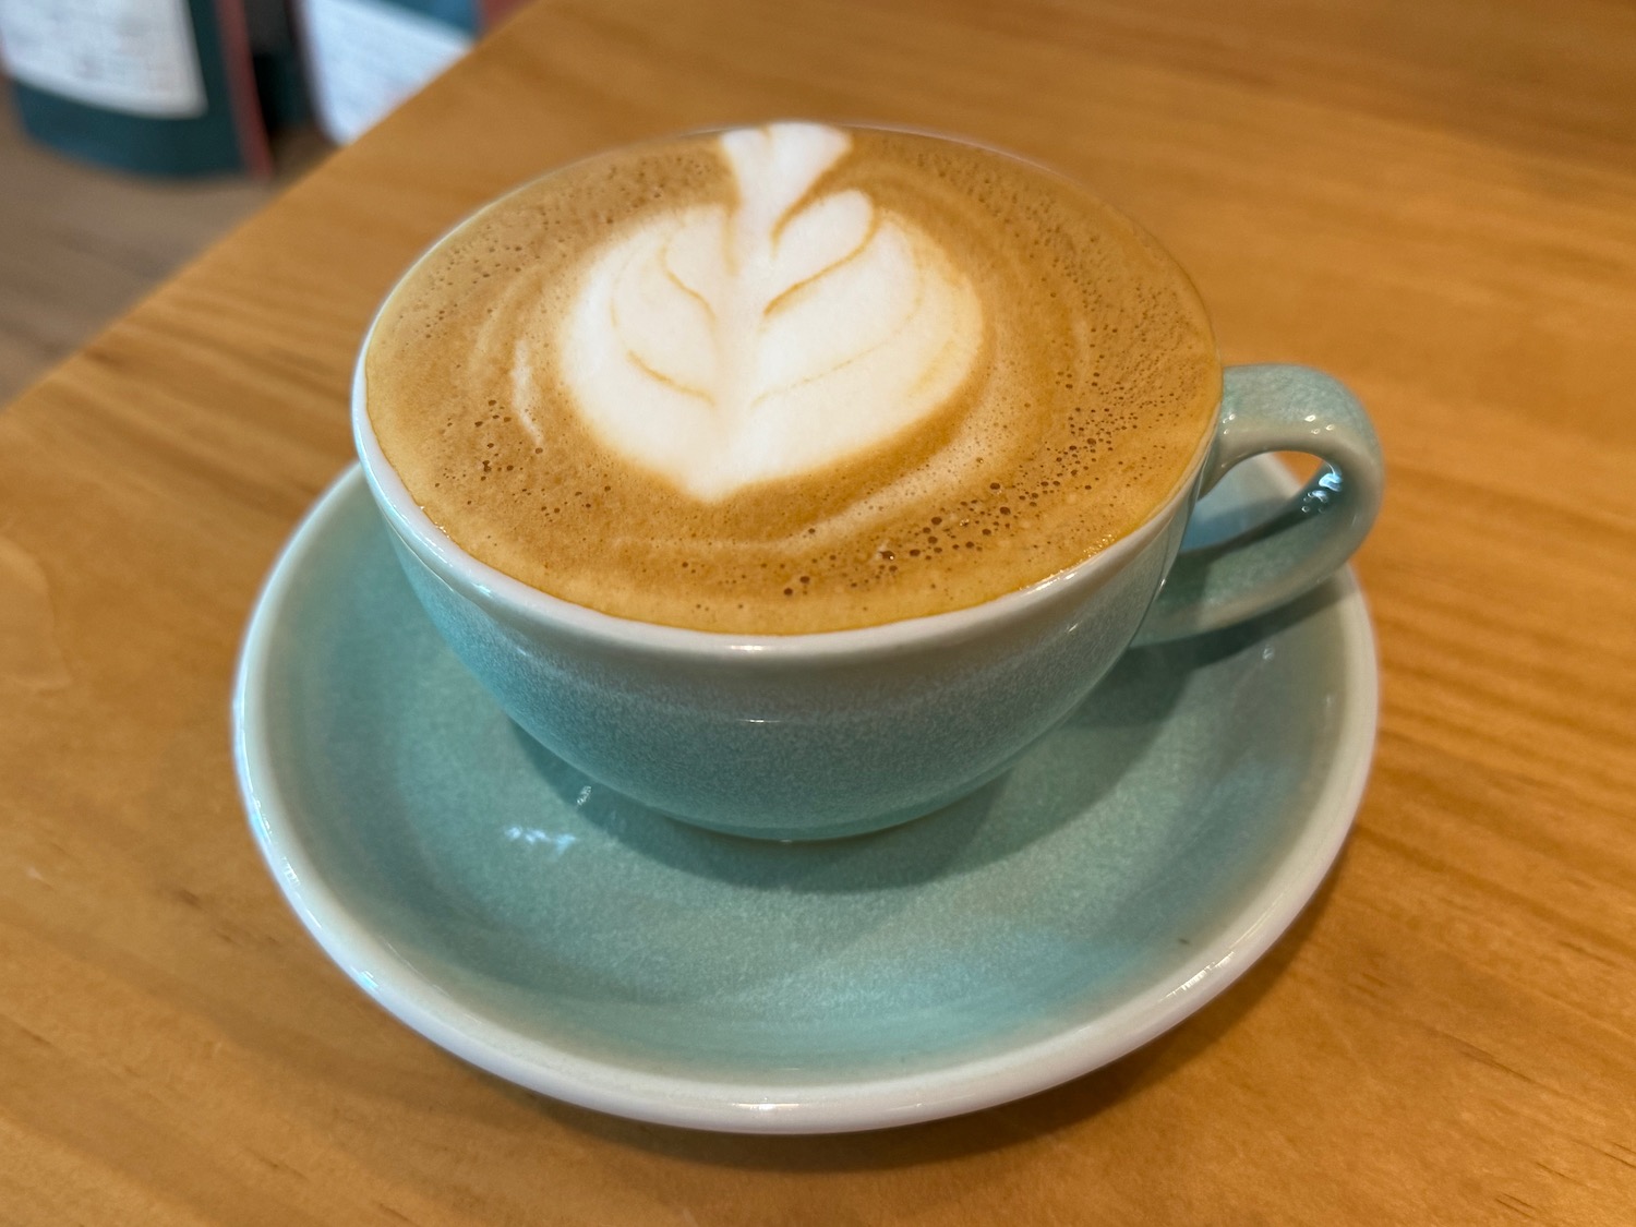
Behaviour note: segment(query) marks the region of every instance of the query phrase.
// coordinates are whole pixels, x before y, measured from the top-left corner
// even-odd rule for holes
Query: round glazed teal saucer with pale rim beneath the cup
[[[1222,540],[1294,489],[1240,465]],[[684,826],[517,730],[443,646],[357,468],[250,620],[239,782],[324,951],[450,1052],[607,1112],[874,1129],[1093,1070],[1222,991],[1340,851],[1374,743],[1350,573],[1126,654],[1008,775],[829,844]]]

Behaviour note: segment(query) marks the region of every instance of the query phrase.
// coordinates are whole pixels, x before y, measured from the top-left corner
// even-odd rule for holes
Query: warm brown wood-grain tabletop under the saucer
[[[587,151],[777,115],[1054,162],[1229,360],[1371,406],[1379,759],[1319,900],[1119,1063],[743,1139],[545,1101],[355,990],[227,746],[399,268]],[[0,414],[0,1222],[1636,1222],[1636,11],[1579,0],[564,0]]]

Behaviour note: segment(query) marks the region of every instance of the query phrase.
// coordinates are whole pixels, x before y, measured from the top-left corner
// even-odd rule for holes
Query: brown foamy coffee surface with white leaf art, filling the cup
[[[839,630],[1119,540],[1211,437],[1196,293],[1027,162],[818,124],[604,154],[402,280],[365,353],[388,461],[468,553],[605,614]]]

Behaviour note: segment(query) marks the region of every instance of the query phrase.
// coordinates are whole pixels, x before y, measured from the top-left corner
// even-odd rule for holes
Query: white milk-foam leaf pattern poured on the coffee
[[[810,195],[846,133],[774,124],[720,147],[736,204],[618,236],[561,330],[563,378],[594,434],[705,501],[890,440],[982,348],[977,294],[931,236],[856,188]],[[520,352],[522,402],[532,373]]]

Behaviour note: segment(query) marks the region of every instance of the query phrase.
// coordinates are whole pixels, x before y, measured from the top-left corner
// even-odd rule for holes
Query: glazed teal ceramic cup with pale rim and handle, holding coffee
[[[1137,638],[1209,631],[1319,584],[1381,501],[1379,443],[1340,383],[1304,366],[1234,366],[1216,437],[1178,492],[1078,566],[933,617],[730,635],[599,614],[479,563],[404,489],[366,399],[360,360],[353,432],[393,546],[442,636],[510,718],[646,807],[767,839],[861,834],[949,805],[1094,703]],[[1271,522],[1178,555],[1199,496],[1263,452],[1325,466]]]

